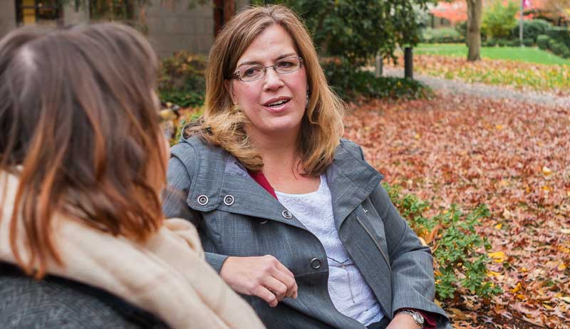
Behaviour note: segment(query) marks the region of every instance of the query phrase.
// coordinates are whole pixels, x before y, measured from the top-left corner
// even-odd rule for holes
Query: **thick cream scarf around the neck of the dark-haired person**
[[[18,184],[16,176],[0,172],[0,260],[9,263],[15,263],[9,219]],[[168,219],[145,243],[110,236],[61,215],[53,224],[66,266],[51,261],[48,273],[109,291],[175,329],[264,328],[254,310],[204,261],[197,231],[188,221]],[[27,260],[26,249],[19,250]]]

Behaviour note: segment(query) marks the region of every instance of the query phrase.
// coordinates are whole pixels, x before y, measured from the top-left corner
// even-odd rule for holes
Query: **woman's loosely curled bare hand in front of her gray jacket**
[[[237,293],[257,296],[271,307],[283,298],[297,298],[293,273],[271,255],[228,257],[219,275]]]

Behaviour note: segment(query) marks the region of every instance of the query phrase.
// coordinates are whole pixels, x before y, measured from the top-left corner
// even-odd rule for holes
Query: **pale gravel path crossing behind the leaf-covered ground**
[[[384,76],[403,78],[404,69],[395,67],[384,67]],[[447,94],[467,94],[484,98],[496,98],[515,100],[523,103],[538,103],[541,105],[570,107],[570,96],[559,96],[552,93],[520,91],[498,85],[484,85],[482,83],[465,83],[461,80],[446,80],[435,78],[430,75],[420,75],[414,72],[414,79],[425,85],[429,85],[433,90]]]

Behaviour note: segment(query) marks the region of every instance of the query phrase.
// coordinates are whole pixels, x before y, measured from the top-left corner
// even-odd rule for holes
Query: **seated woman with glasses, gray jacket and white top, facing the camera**
[[[163,211],[197,226],[268,328],[445,328],[430,249],[341,139],[344,109],[291,10],[242,11],[210,51],[202,120],[172,147]]]

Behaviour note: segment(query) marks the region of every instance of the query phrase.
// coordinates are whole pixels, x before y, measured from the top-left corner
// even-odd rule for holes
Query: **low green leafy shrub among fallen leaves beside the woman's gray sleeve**
[[[480,205],[472,211],[464,212],[452,204],[439,214],[425,217],[430,204],[413,194],[401,195],[399,187],[383,184],[390,199],[408,220],[410,226],[420,236],[433,235],[430,247],[435,259],[435,292],[437,298],[445,301],[453,299],[458,290],[466,291],[480,298],[502,293],[501,288],[487,276],[487,265],[491,262],[486,251],[490,244],[477,234],[476,226],[481,219],[490,215],[487,206]]]

